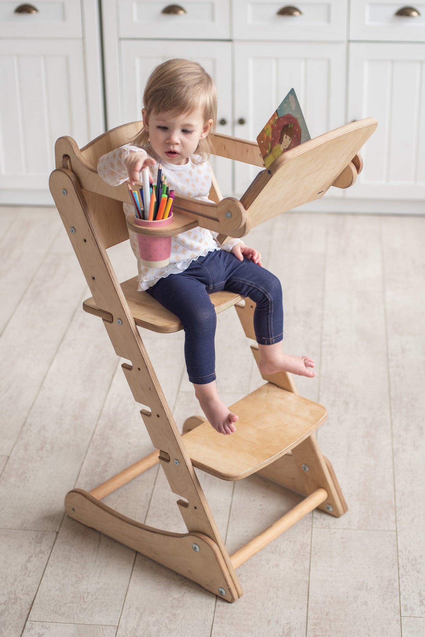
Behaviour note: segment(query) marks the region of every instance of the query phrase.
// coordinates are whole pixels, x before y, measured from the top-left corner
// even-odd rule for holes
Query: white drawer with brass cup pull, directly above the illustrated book
[[[240,40],[344,40],[346,0],[265,2],[233,0],[233,38]],[[295,15],[281,15],[285,10]],[[300,15],[293,11],[296,9]]]

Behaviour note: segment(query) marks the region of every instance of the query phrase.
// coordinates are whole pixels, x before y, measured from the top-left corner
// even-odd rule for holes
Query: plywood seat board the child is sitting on
[[[130,278],[120,285],[136,325],[146,327],[146,329],[150,329],[153,332],[162,332],[164,334],[178,332],[180,329],[183,329],[183,325],[175,314],[164,308],[163,305],[158,303],[158,301],[147,292],[137,292],[137,276]],[[244,300],[244,296],[240,296],[240,294],[235,294],[234,292],[227,292],[226,290],[213,292],[209,297],[217,314],[239,303],[239,301]],[[113,320],[111,312],[108,312],[108,310],[104,308],[98,308],[93,297],[83,302],[83,309],[106,321],[112,322]]]

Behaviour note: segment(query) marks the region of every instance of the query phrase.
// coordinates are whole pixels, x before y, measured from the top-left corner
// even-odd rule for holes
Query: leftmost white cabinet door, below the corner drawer
[[[87,143],[81,41],[0,41],[0,189],[48,190],[55,141]]]

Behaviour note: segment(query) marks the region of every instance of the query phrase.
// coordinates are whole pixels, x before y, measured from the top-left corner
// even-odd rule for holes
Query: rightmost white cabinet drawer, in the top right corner
[[[402,2],[391,0],[356,0],[351,2],[350,39],[387,40],[400,42],[424,41],[425,3],[413,2],[408,5],[420,15],[396,15]]]

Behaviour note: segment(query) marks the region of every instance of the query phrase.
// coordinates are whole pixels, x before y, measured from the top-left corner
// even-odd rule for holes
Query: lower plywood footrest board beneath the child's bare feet
[[[193,466],[222,480],[240,480],[288,453],[326,420],[318,403],[265,383],[232,404],[237,413],[232,435],[204,422],[183,437]]]

